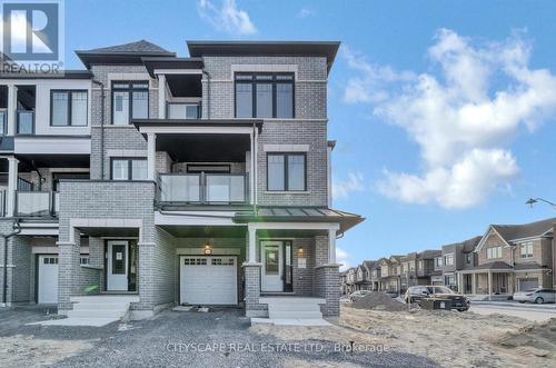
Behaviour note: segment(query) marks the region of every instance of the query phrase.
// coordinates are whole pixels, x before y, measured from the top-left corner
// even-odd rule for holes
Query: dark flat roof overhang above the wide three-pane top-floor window
[[[282,56],[326,57],[328,71],[340,47],[339,41],[187,41],[191,57]]]

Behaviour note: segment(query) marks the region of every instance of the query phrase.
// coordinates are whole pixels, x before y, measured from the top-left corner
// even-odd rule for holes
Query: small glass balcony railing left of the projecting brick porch
[[[17,191],[16,216],[56,217],[60,209],[60,195],[53,191]]]

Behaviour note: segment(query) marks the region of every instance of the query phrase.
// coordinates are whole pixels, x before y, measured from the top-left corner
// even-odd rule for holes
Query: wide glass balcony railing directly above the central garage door
[[[245,205],[247,173],[162,173],[158,180],[161,203]]]

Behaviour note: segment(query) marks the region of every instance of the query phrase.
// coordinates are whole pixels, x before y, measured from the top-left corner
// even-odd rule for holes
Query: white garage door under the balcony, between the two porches
[[[237,305],[236,257],[180,257],[180,302]]]

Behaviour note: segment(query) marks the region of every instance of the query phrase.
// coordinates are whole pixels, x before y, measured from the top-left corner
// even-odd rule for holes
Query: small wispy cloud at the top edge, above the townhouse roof
[[[215,6],[211,0],[197,2],[199,16],[216,29],[232,34],[252,34],[257,28],[245,10],[237,8],[235,0],[222,0],[221,7]]]

